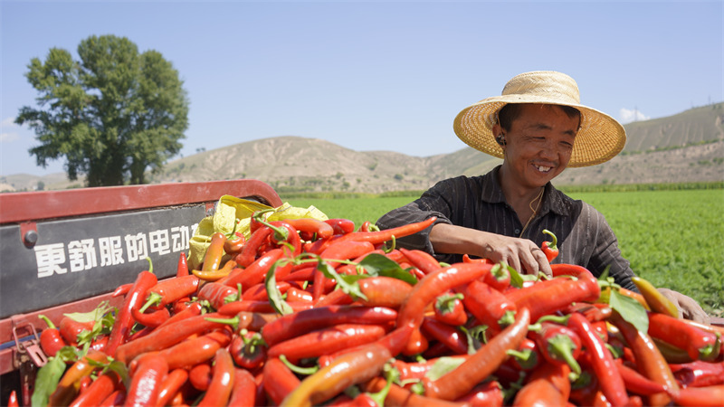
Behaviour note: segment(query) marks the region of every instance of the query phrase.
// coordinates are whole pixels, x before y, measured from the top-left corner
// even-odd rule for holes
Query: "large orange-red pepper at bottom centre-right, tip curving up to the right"
[[[471,264],[471,263],[469,263]],[[488,265],[490,267],[490,265]],[[508,357],[510,349],[516,349],[528,334],[530,312],[528,308],[519,309],[515,322],[500,334],[493,336],[487,344],[468,357],[460,366],[437,380],[424,379],[424,394],[428,397],[456,400],[470,393],[477,383],[497,370]]]

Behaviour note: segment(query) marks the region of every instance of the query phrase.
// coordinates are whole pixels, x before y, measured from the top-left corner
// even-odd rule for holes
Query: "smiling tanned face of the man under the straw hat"
[[[578,118],[569,118],[557,106],[523,106],[505,132],[510,175],[527,187],[546,185],[566,169],[577,129]]]

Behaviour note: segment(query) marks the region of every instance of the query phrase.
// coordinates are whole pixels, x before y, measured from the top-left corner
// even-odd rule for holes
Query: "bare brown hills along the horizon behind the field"
[[[625,125],[624,152],[611,161],[570,168],[557,185],[709,182],[724,180],[724,103],[667,118]],[[438,156],[392,151],[354,151],[317,138],[284,136],[252,140],[176,159],[151,183],[221,179],[262,180],[279,192],[348,191],[382,193],[421,190],[453,175],[478,175],[500,160],[466,147]],[[8,175],[14,189],[69,187],[62,174]],[[76,185],[80,183],[75,183]],[[7,186],[5,186],[7,189]]]

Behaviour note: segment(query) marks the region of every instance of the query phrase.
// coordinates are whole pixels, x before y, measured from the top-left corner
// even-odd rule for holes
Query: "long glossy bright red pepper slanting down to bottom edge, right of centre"
[[[583,314],[571,314],[568,318],[568,327],[581,338],[581,343],[591,355],[592,367],[606,399],[614,406],[626,405],[629,398],[624,379],[618,373],[614,357],[606,349],[603,339],[595,333],[594,327]]]

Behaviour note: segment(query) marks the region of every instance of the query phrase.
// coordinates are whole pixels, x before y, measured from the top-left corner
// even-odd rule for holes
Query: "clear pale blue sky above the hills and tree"
[[[300,136],[411,156],[462,147],[452,119],[524,71],[571,75],[626,123],[722,100],[724,11],[713,2],[0,3],[0,175],[36,166],[24,73],[52,47],[128,37],[173,63],[190,99],[182,154]]]

